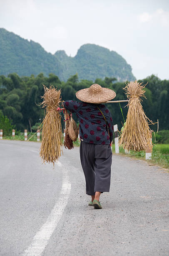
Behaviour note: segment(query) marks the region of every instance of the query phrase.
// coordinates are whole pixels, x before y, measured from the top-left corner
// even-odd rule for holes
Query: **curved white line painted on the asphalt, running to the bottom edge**
[[[63,172],[62,189],[59,200],[53,207],[47,221],[35,234],[31,245],[25,250],[23,256],[40,256],[42,254],[67,205],[71,184],[67,175],[67,169],[63,167],[60,161],[58,161],[57,164],[62,167]]]

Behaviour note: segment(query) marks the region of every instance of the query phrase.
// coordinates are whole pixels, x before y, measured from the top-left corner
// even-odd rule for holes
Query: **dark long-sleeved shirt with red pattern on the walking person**
[[[72,113],[76,113],[80,123],[80,140],[94,144],[110,144],[113,139],[113,121],[108,108],[103,104],[91,104],[67,100],[64,107]],[[100,110],[102,111],[104,117]],[[108,127],[107,127],[108,126]],[[109,129],[109,134],[107,132]]]

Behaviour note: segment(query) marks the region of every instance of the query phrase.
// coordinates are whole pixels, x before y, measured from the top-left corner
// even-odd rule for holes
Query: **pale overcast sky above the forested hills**
[[[122,55],[137,79],[169,79],[169,0],[0,0],[0,27],[52,54],[104,46]]]

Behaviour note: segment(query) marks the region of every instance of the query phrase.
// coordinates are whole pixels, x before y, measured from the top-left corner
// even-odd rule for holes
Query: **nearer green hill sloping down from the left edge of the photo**
[[[60,73],[60,69],[59,61],[40,44],[0,28],[0,74],[16,72],[23,76],[44,72],[48,75],[56,70]]]

